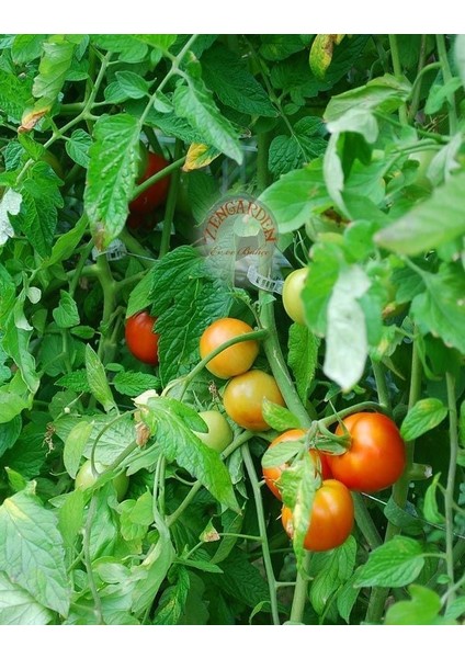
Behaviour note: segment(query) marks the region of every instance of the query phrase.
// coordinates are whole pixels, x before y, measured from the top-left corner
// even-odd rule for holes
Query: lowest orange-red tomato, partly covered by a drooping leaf
[[[330,551],[345,542],[353,527],[353,501],[349,489],[339,480],[325,480],[315,494],[310,523],[305,535],[306,551]],[[292,538],[292,511],[283,507],[281,521]]]

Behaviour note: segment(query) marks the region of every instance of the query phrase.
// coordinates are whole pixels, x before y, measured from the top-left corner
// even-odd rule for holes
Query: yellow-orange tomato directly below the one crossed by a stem
[[[226,386],[223,397],[226,413],[238,426],[246,430],[269,430],[270,426],[263,418],[263,400],[285,407],[274,378],[259,370],[248,371],[243,375],[232,377]]]

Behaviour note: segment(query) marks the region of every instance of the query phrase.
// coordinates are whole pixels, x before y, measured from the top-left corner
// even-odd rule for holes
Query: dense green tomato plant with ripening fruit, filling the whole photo
[[[465,36],[5,32],[0,624],[463,624]]]

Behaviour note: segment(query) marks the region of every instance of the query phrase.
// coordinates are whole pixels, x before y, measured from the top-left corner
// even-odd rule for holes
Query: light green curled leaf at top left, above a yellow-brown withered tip
[[[44,55],[32,88],[34,97],[42,99],[41,107],[52,106],[56,101],[71,67],[75,47],[76,44],[66,41],[63,35],[53,36],[43,44]]]

